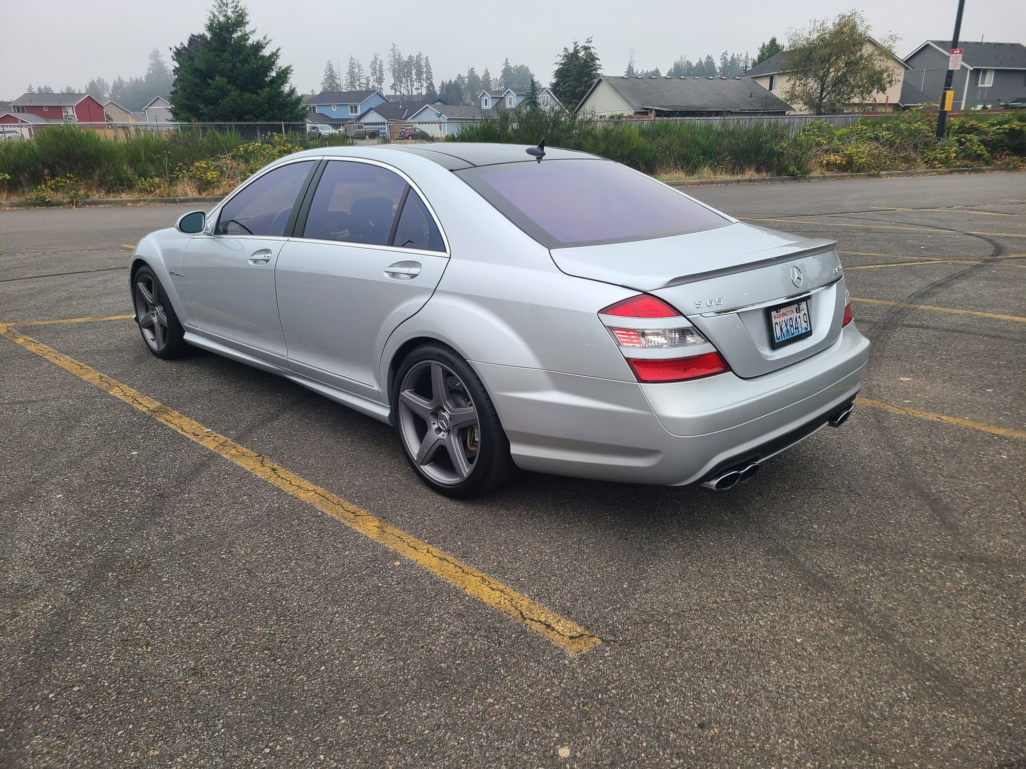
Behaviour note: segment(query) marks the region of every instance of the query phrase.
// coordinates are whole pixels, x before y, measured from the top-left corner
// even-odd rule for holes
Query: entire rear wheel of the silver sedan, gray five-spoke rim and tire
[[[393,403],[406,460],[439,493],[476,496],[515,474],[491,399],[451,349],[426,345],[410,353],[396,374]]]

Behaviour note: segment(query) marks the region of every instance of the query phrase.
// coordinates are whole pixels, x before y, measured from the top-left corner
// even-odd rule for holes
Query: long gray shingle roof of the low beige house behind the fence
[[[602,77],[634,111],[788,112],[791,107],[751,78]]]

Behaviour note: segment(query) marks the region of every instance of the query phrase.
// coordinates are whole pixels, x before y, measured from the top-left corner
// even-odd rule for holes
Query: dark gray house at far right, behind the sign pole
[[[1022,43],[958,43],[961,65],[954,72],[955,110],[999,109],[1026,98],[1026,45]],[[928,40],[905,57],[911,81],[928,100],[937,104],[944,91],[951,42]]]

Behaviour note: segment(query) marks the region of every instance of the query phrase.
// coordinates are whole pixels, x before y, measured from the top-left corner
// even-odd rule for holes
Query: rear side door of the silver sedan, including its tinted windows
[[[385,341],[435,290],[446,244],[423,197],[394,169],[330,160],[314,184],[275,270],[288,362],[383,400]]]

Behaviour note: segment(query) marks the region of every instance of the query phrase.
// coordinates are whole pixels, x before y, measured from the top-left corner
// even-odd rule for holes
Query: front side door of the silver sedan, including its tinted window
[[[186,287],[204,335],[286,366],[274,268],[315,159],[277,166],[222,205],[215,221],[189,242]]]

